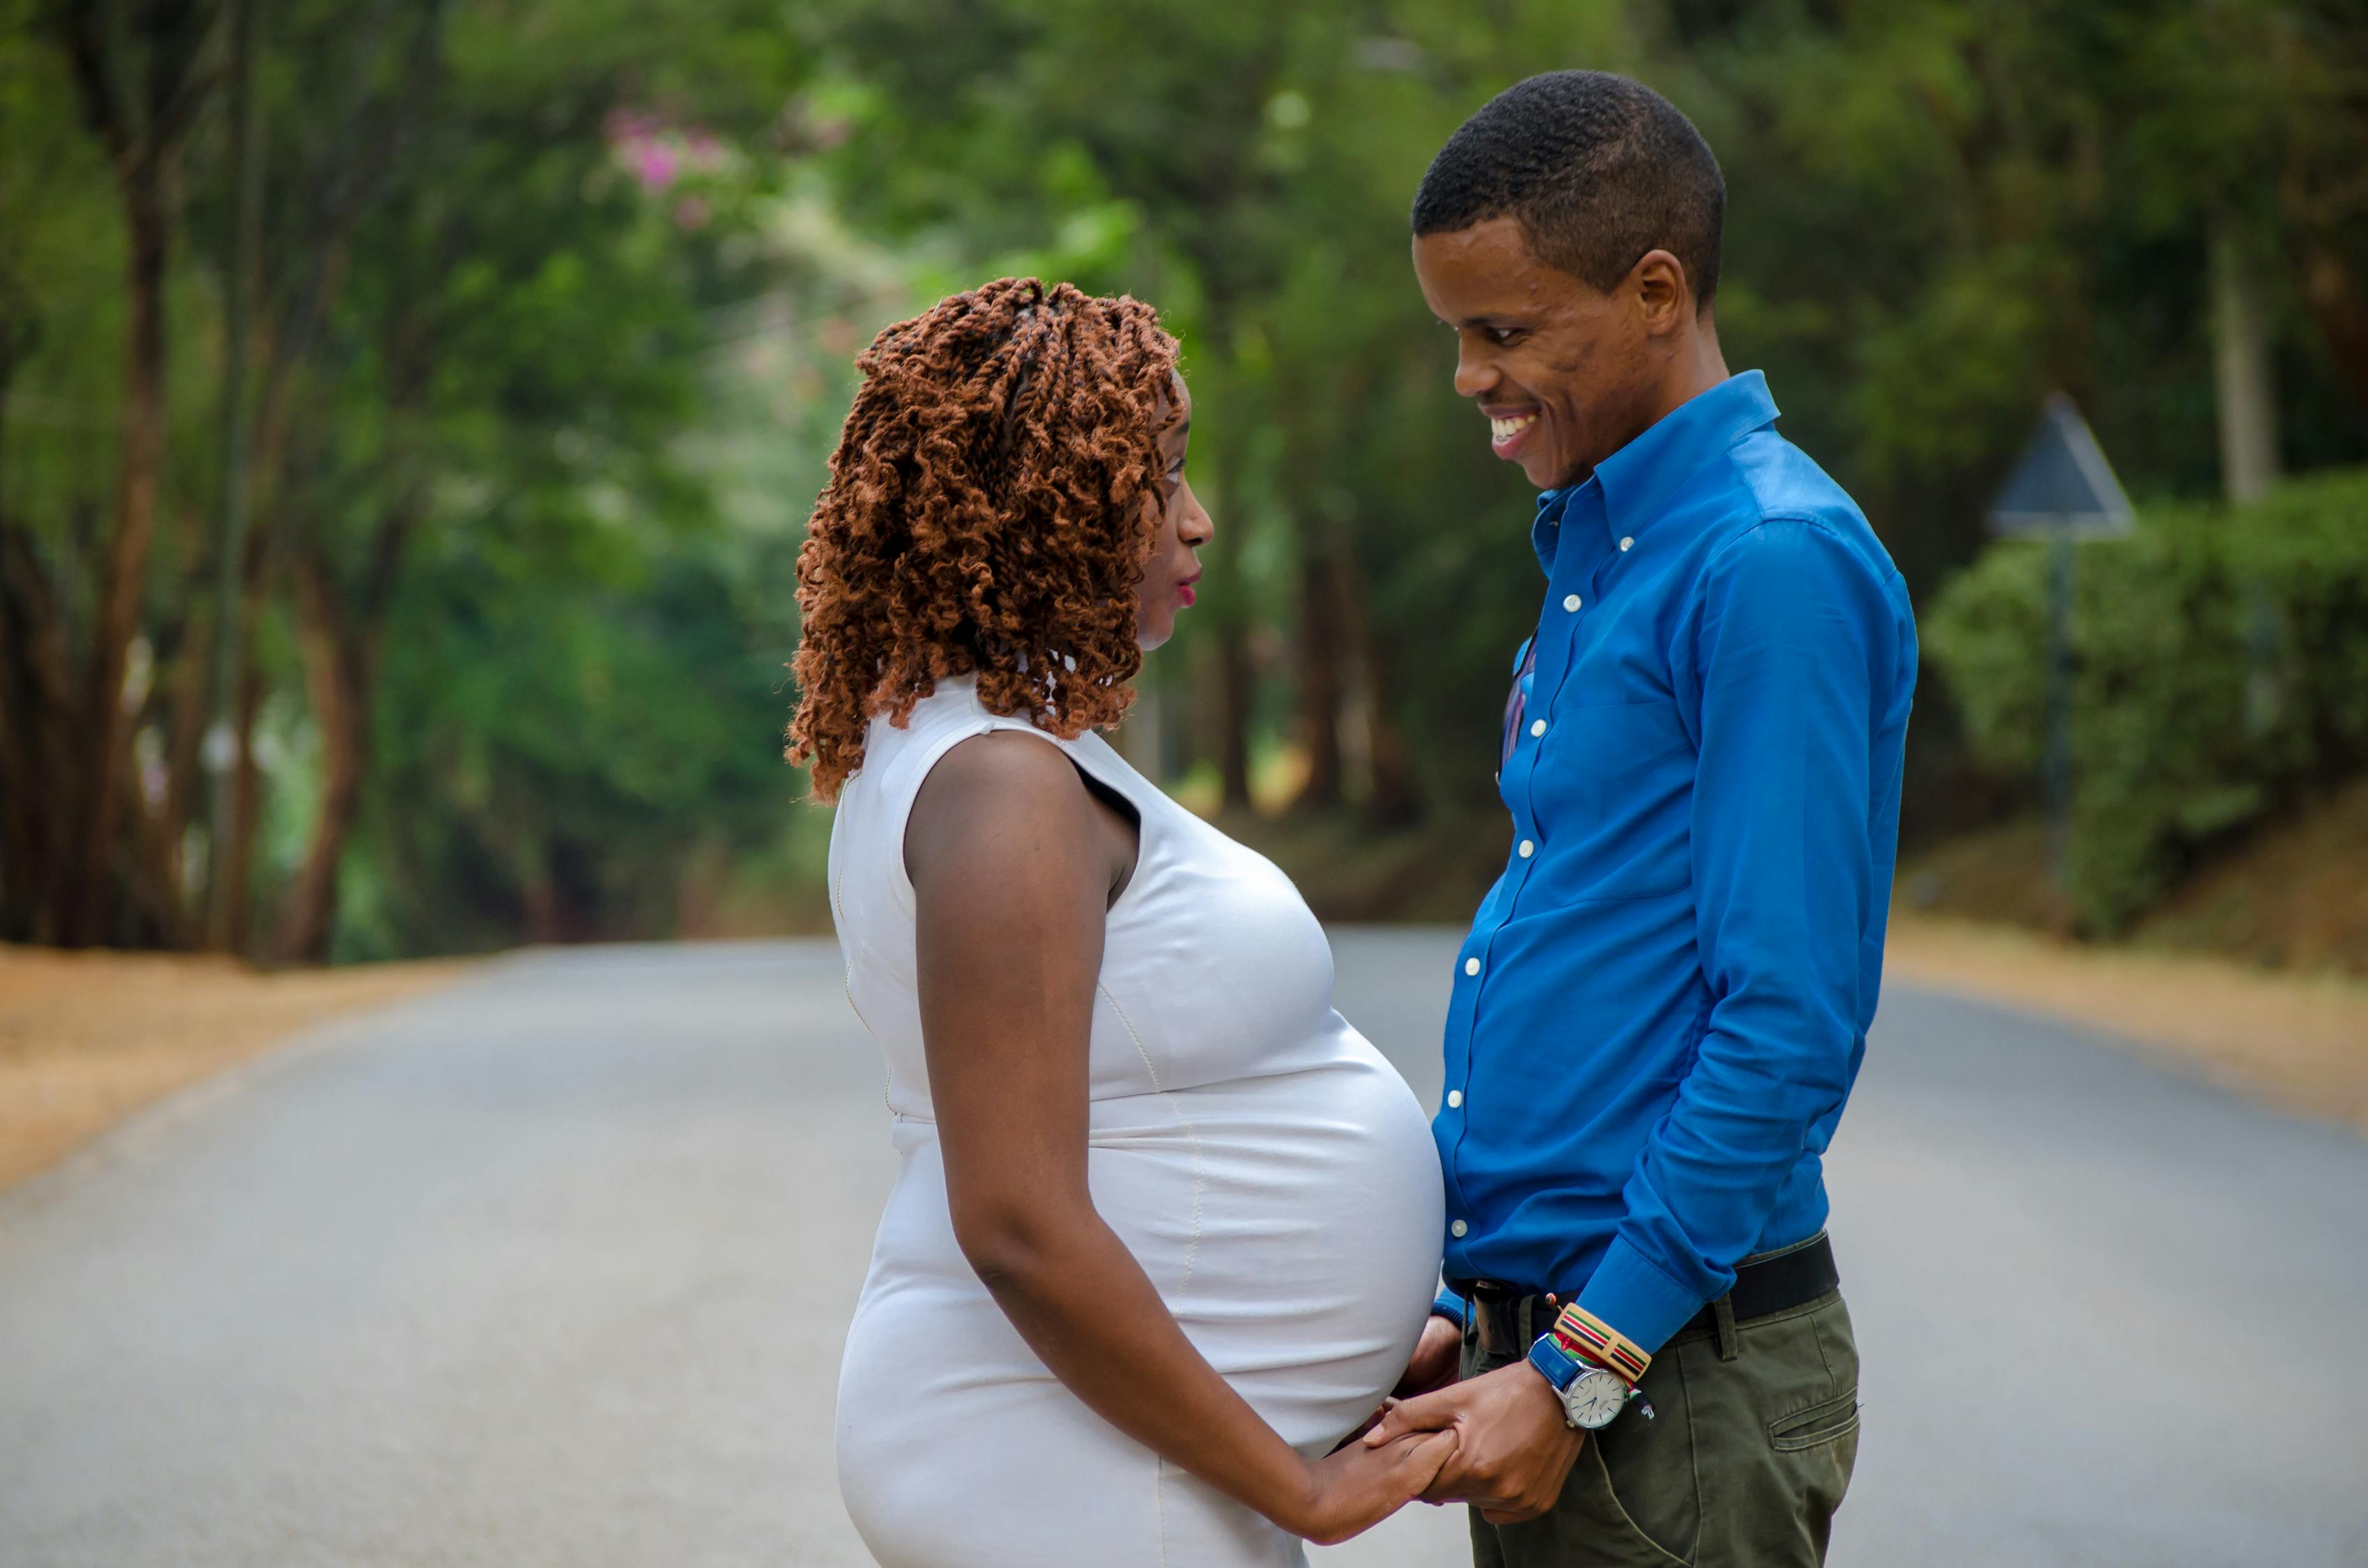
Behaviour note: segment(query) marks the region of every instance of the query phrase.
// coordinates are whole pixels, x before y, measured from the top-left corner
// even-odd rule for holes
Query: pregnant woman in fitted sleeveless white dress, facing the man
[[[1333,1452],[1430,1312],[1414,1094],[1291,881],[1094,734],[1212,533],[1175,355],[1035,279],[890,327],[798,561],[791,758],[902,1161],[838,1379],[890,1568],[1298,1563],[1456,1442]]]

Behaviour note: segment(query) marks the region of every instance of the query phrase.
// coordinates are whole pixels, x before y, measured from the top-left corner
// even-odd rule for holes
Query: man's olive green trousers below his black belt
[[[1534,1303],[1534,1334],[1553,1317]],[[1530,1324],[1525,1324],[1530,1326]],[[1527,1343],[1527,1338],[1525,1338]],[[1463,1336],[1463,1376],[1516,1360]],[[1551,1514],[1492,1525],[1478,1568],[1809,1568],[1859,1457],[1859,1348],[1840,1291],[1672,1338],[1636,1405],[1587,1435]]]

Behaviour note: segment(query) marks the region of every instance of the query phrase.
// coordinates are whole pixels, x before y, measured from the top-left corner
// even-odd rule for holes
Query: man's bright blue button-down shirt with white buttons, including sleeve
[[[1539,497],[1513,853],[1447,1014],[1447,1277],[1646,1350],[1823,1227],[1883,973],[1916,625],[1774,419],[1748,372]]]

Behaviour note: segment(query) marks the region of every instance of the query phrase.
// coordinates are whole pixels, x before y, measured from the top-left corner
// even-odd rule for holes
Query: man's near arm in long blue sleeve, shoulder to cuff
[[[1691,649],[1695,936],[1712,1004],[1579,1293],[1646,1350],[1733,1284],[1857,1075],[1861,940],[1880,886],[1875,687],[1897,675],[1885,580],[1804,519],[1764,521],[1712,557]]]

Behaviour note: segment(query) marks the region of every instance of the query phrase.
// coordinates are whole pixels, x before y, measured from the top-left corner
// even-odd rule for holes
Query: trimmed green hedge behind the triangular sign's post
[[[2119,931],[2171,879],[2295,798],[2368,767],[2368,471],[2238,512],[2148,509],[2077,547],[2077,919]],[[1925,613],[1977,753],[2029,772],[2046,746],[2048,550],[1994,545]]]

